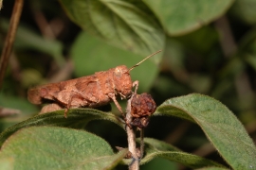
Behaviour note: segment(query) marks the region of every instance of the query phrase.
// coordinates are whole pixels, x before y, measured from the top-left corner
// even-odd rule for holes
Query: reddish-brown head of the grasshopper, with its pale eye
[[[133,81],[129,70],[125,65],[120,65],[114,70],[115,91],[119,93],[121,99],[128,98],[132,94]]]

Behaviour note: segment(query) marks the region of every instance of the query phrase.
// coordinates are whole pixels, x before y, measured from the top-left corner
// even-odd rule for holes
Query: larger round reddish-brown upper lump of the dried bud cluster
[[[135,94],[131,101],[131,114],[134,118],[150,116],[156,110],[155,101],[148,93]]]

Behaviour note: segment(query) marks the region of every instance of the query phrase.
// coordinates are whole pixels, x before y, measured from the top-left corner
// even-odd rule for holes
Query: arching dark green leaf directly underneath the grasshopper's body
[[[7,128],[0,134],[0,145],[14,132],[24,127],[54,126],[82,128],[92,120],[108,120],[124,128],[124,124],[120,122],[119,118],[110,112],[92,109],[70,109],[68,110],[67,118],[64,118],[64,110],[57,110],[34,116],[24,122]]]

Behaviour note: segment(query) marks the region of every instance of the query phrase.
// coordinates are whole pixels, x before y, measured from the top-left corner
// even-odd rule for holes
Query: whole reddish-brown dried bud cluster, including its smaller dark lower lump
[[[150,94],[141,93],[133,96],[131,108],[131,115],[133,117],[131,125],[142,128],[148,126],[149,116],[155,112],[156,105]]]

